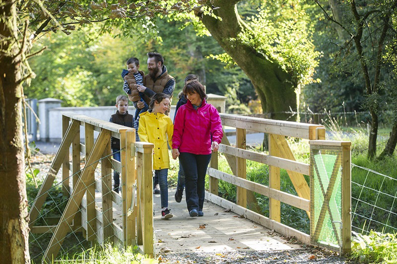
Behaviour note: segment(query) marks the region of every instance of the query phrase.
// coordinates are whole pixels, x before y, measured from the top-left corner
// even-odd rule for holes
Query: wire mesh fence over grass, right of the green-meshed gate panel
[[[397,232],[397,179],[352,164],[352,231]]]

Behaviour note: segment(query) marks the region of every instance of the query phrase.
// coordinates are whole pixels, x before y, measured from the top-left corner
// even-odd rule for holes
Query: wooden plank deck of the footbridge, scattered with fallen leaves
[[[293,250],[298,245],[287,244],[279,235],[246,218],[239,218],[233,212],[204,201],[203,217],[190,217],[186,207],[185,194],[180,203],[174,199],[175,190],[168,192],[168,208],[173,218],[161,219],[160,195],[153,195],[153,219],[156,254],[162,248],[172,253]],[[217,214],[217,215],[215,215]],[[205,228],[200,228],[203,225]],[[213,243],[215,242],[215,243]]]

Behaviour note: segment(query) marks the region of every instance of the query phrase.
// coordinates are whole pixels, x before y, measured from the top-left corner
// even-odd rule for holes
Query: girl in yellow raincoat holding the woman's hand
[[[171,118],[164,113],[168,110],[170,97],[164,93],[156,93],[149,104],[149,111],[139,115],[138,135],[141,142],[154,144],[153,169],[158,176],[161,197],[161,219],[170,219],[173,215],[168,209],[168,169],[170,158],[168,144],[172,145],[174,125]]]

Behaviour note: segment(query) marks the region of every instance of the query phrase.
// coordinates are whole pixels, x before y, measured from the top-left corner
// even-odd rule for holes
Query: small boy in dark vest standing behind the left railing
[[[116,107],[117,107],[116,114],[114,114],[110,117],[109,122],[135,129],[135,141],[139,141],[138,125],[136,124],[133,116],[130,115],[127,111],[128,110],[128,98],[126,95],[117,96]],[[111,147],[112,147],[113,158],[117,161],[120,161],[121,160],[121,158],[120,158],[120,139],[112,137]],[[114,180],[113,190],[116,193],[119,193],[120,175],[116,170],[113,172],[113,180]]]

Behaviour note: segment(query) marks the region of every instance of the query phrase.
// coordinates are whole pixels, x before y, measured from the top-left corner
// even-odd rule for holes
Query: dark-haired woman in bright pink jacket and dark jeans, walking
[[[189,215],[203,216],[204,180],[211,152],[218,151],[222,125],[216,108],[205,102],[199,81],[185,85],[188,102],[178,109],[172,136],[172,157],[179,157],[185,172],[185,195]]]

